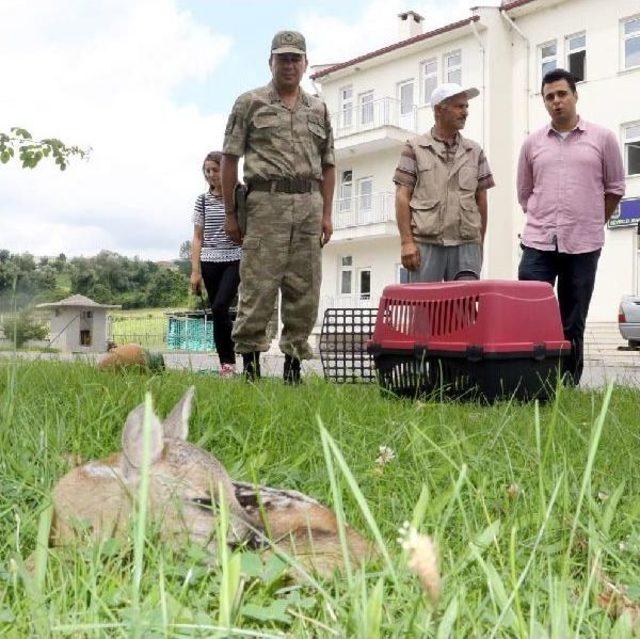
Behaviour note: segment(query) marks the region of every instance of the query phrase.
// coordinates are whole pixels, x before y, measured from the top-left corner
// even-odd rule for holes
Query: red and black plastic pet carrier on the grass
[[[369,353],[397,395],[546,399],[570,352],[544,282],[401,284],[384,289]]]

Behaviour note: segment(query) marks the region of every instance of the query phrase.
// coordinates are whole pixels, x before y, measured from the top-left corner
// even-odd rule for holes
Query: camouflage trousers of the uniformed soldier
[[[308,339],[320,297],[321,220],[319,192],[249,193],[232,333],[237,353],[268,350],[266,329],[280,290],[280,350],[299,359],[313,357]]]

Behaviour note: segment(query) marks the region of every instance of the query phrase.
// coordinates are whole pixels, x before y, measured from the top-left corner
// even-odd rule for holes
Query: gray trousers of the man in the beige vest
[[[480,277],[482,247],[480,244],[440,246],[416,242],[420,249],[420,267],[409,271],[409,282],[449,282],[460,271],[473,271]]]

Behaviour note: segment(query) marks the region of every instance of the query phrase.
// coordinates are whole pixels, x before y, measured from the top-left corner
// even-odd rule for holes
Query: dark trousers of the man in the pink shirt
[[[558,302],[564,338],[571,342],[571,354],[563,358],[565,382],[578,385],[584,367],[584,328],[596,279],[601,249],[589,253],[560,253],[522,247],[519,280],[549,282],[558,279]]]

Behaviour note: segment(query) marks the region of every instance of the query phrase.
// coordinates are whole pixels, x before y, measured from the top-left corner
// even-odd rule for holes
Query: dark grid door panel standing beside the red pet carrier
[[[328,308],[322,319],[320,361],[332,382],[373,382],[373,358],[367,344],[373,335],[377,308]]]

